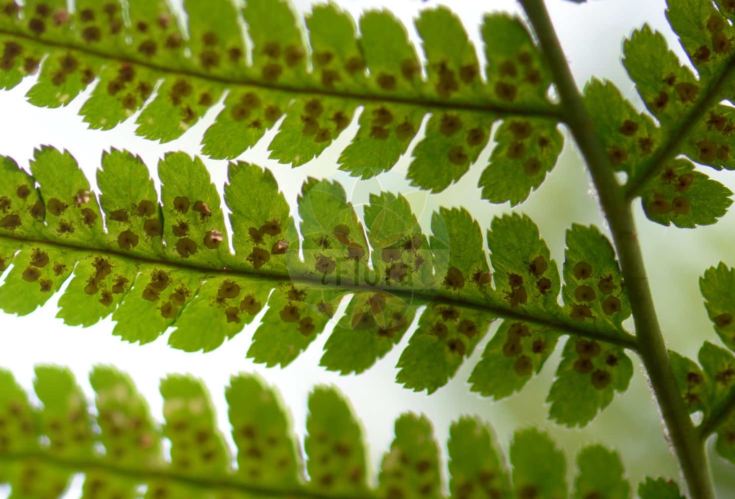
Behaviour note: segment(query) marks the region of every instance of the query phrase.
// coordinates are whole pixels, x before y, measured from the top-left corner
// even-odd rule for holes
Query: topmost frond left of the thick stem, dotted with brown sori
[[[142,109],[137,134],[161,142],[224,98],[203,153],[233,159],[277,126],[270,157],[293,166],[319,156],[362,107],[338,161],[362,178],[390,170],[428,114],[409,178],[434,192],[465,175],[501,120],[480,181],[494,203],[525,200],[559,156],[559,113],[546,96],[551,77],[517,18],[485,18],[483,72],[462,23],[443,7],[415,21],[425,67],[386,11],[365,12],[358,39],[350,15],[334,4],[315,6],[305,19],[307,44],[286,0],[249,0],[244,8],[187,0],[184,7],[187,29],[162,0],[80,0],[73,12],[58,0],[10,1],[0,12],[0,87],[40,68],[29,102],[58,107],[96,81],[81,110],[91,128],[114,128]]]

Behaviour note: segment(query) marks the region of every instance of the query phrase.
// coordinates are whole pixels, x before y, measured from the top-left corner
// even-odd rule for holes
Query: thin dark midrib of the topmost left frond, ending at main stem
[[[43,39],[39,37],[33,37],[29,34],[21,32],[13,32],[7,29],[0,29],[0,35],[18,37],[24,40],[26,43],[32,43],[34,45],[46,46],[47,48],[57,48],[64,51],[76,51],[80,54],[85,54],[88,57],[96,57],[98,59],[106,59],[110,62],[125,63],[133,62],[135,65],[143,68],[148,68],[161,73],[161,77],[166,75],[175,76],[186,76],[189,78],[196,78],[209,83],[222,84],[226,87],[246,86],[246,87],[257,87],[271,92],[280,92],[287,97],[293,97],[294,95],[322,95],[324,97],[341,98],[347,101],[357,101],[359,104],[370,103],[370,102],[385,102],[385,103],[398,103],[409,106],[422,107],[427,111],[438,110],[438,111],[470,111],[470,112],[484,112],[489,114],[496,114],[498,116],[538,116],[548,117],[553,120],[559,120],[562,112],[558,105],[548,104],[545,106],[528,106],[528,105],[516,105],[516,106],[503,106],[498,103],[470,103],[462,101],[446,101],[437,100],[433,98],[412,98],[407,96],[395,96],[395,95],[382,95],[373,94],[369,92],[349,92],[346,90],[326,90],[325,87],[318,86],[317,84],[311,84],[309,79],[304,80],[303,87],[295,87],[287,84],[271,84],[265,81],[260,81],[251,78],[226,78],[223,76],[216,76],[209,73],[202,73],[197,70],[191,70],[187,68],[169,68],[164,65],[159,65],[154,62],[150,62],[139,57],[121,56],[112,52],[105,52],[96,50],[88,45],[76,45],[76,43],[58,42],[55,40]],[[46,50],[45,52],[47,52]],[[243,61],[244,64],[244,61]]]

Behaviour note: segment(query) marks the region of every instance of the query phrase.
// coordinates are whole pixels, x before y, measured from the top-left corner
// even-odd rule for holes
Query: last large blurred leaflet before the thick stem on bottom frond
[[[590,445],[577,454],[578,473],[574,480],[574,499],[603,497],[628,499],[631,486],[625,480],[620,456],[602,445]]]

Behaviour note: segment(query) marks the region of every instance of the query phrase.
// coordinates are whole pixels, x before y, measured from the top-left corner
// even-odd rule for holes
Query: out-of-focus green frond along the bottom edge
[[[359,421],[332,387],[316,387],[309,396],[302,458],[278,393],[257,376],[233,376],[226,389],[237,445],[233,467],[209,393],[191,376],[162,380],[162,427],[129,377],[114,368],[99,366],[90,374],[96,416],[65,368],[36,368],[35,391],[43,407],[29,404],[9,372],[0,370],[0,381],[0,483],[10,484],[12,497],[60,497],[73,473],[85,474],[85,497],[138,498],[141,485],[146,498],[551,499],[569,494],[564,454],[548,434],[534,428],[516,431],[509,469],[490,426],[463,417],[450,429],[447,495],[431,423],[412,413],[395,421],[395,439],[374,483]],[[162,437],[171,441],[170,456],[162,452]],[[629,497],[615,451],[589,445],[577,462],[573,497]],[[645,487],[659,487],[649,482]]]

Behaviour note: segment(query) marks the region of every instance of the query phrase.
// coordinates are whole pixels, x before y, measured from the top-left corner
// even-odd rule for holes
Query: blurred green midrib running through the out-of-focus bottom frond
[[[123,467],[112,465],[104,462],[102,459],[70,459],[68,457],[60,458],[44,451],[24,452],[18,454],[2,454],[0,463],[13,462],[43,462],[44,465],[54,467],[67,473],[109,473],[118,478],[128,478],[137,480],[141,483],[153,481],[171,481],[176,484],[185,485],[187,487],[196,487],[200,489],[220,489],[224,492],[241,492],[245,495],[254,495],[266,498],[304,498],[304,499],[372,499],[372,494],[359,495],[334,495],[333,493],[322,494],[314,489],[309,489],[305,485],[291,487],[289,489],[278,489],[276,487],[258,486],[245,484],[238,480],[235,476],[219,476],[204,477],[191,476],[189,473],[179,473],[175,470],[167,469],[163,465],[159,468],[140,469],[133,467]]]

